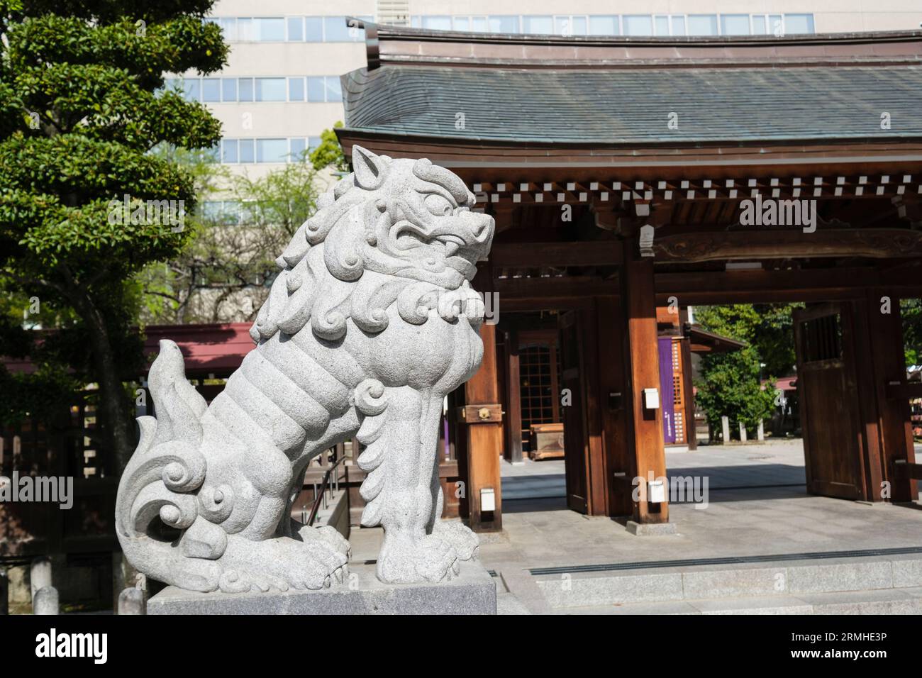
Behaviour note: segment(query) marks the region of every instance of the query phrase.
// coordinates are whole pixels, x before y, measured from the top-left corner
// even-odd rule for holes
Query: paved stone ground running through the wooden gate
[[[669,453],[670,476],[709,476],[708,504],[671,505],[676,535],[635,537],[621,522],[566,508],[561,460],[503,462],[503,532],[481,535],[480,559],[514,590],[501,606],[541,612],[532,567],[922,546],[919,506],[810,496],[803,463],[799,441]],[[380,540],[379,529],[352,529],[353,559],[373,560]]]

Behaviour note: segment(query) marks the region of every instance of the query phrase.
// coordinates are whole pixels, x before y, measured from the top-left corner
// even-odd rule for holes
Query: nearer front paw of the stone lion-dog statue
[[[418,541],[384,536],[378,555],[378,578],[390,584],[451,580],[460,571],[458,554],[448,542],[434,534]]]

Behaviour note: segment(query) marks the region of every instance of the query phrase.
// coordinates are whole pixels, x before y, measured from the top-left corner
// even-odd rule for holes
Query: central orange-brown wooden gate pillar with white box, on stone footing
[[[644,388],[659,392],[659,349],[656,334],[656,291],[653,282],[653,258],[638,256],[636,239],[625,240],[625,261],[621,269],[622,303],[627,327],[628,388],[625,405],[631,426],[635,460],[635,475],[646,483],[666,478],[666,448],[663,442],[662,410],[644,407]],[[662,398],[662,394],[659,394]],[[668,482],[666,482],[668,490]],[[668,501],[655,504],[647,493],[647,501],[634,502],[633,519],[638,523],[669,521]],[[667,496],[668,499],[668,496]]]

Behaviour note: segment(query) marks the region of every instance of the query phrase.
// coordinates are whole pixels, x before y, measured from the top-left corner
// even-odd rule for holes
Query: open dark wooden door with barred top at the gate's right
[[[850,303],[823,303],[794,313],[810,494],[865,498],[853,327]]]

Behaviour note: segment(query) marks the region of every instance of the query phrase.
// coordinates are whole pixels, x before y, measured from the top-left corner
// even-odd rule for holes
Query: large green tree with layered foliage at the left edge
[[[165,74],[226,63],[211,6],[0,0],[0,276],[73,310],[120,464],[134,447],[124,366],[141,357],[134,278],[181,251],[195,207],[189,173],[149,151],[220,137],[202,104],[163,89]]]

